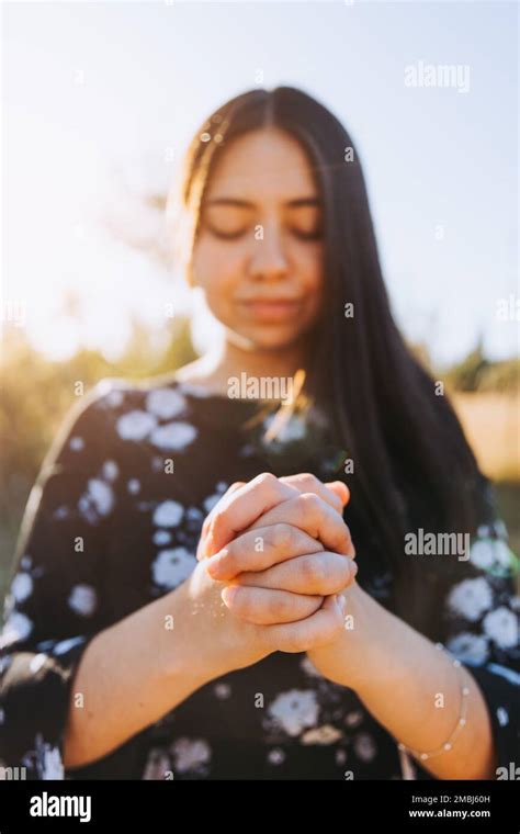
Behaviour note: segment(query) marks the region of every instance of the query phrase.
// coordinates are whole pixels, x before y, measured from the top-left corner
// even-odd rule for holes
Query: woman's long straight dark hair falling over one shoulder
[[[448,398],[392,316],[360,157],[343,125],[292,87],[251,90],[218,108],[185,157],[180,199],[193,219],[192,241],[218,155],[233,138],[268,125],[301,143],[323,200],[325,303],[309,342],[305,392],[353,461],[354,474],[343,475],[352,492],[349,509],[360,530],[372,531],[398,579],[397,607],[420,624],[425,581],[432,574],[420,557],[405,555],[404,537],[418,527],[472,532],[483,476]],[[353,305],[352,317],[346,304]]]

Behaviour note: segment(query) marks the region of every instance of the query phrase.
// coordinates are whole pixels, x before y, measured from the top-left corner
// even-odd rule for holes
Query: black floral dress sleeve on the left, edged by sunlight
[[[65,726],[75,672],[104,627],[100,566],[108,555],[117,465],[100,382],[68,413],[31,492],[0,635],[0,764],[27,779],[67,778]],[[75,706],[81,708],[80,694]]]

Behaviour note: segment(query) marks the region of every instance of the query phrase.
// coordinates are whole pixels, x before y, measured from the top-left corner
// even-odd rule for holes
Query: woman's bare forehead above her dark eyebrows
[[[276,127],[252,131],[223,148],[206,190],[206,200],[292,200],[317,195],[310,164],[302,145]]]

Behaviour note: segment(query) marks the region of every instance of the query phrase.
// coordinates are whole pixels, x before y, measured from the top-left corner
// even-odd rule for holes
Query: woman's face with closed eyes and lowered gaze
[[[297,342],[323,290],[321,208],[301,145],[269,127],[234,139],[212,172],[191,274],[249,347]]]

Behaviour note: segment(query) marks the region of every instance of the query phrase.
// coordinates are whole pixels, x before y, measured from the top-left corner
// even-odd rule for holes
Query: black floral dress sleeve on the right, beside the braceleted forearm
[[[470,556],[457,561],[455,578],[443,589],[440,642],[479,685],[493,726],[496,778],[508,779],[515,778],[510,767],[520,742],[519,561],[495,507],[486,482]]]

